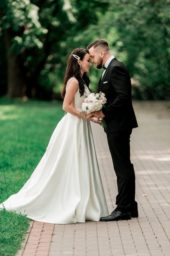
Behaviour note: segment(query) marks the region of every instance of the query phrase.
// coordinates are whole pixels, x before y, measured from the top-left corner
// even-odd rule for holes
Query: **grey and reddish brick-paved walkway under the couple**
[[[139,218],[53,225],[32,222],[17,256],[170,255],[170,102],[134,102],[139,128],[131,136]],[[117,182],[102,128],[92,125],[109,212]]]

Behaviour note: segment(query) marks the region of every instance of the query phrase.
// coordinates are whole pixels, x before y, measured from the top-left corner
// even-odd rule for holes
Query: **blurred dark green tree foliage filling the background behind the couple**
[[[4,0],[0,15],[1,36],[10,32],[9,54],[20,53],[30,98],[59,98],[68,56],[98,38],[128,67],[134,97],[170,97],[170,0]],[[91,67],[94,90],[101,73]]]

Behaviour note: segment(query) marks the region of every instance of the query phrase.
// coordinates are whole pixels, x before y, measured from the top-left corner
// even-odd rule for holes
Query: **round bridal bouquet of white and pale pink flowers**
[[[90,114],[92,112],[99,111],[104,107],[105,103],[106,97],[103,92],[99,92],[96,94],[92,92],[88,94],[88,96],[85,96],[84,102],[82,103],[82,111],[80,112],[80,114]],[[106,128],[107,126],[104,119],[100,118],[100,120],[102,122],[102,127]]]

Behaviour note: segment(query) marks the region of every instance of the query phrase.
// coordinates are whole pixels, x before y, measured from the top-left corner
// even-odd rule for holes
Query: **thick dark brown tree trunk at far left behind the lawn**
[[[11,29],[4,30],[4,38],[7,48],[7,69],[8,69],[8,89],[7,95],[10,98],[18,98],[24,96],[24,88],[26,88],[26,77],[23,72],[22,54],[13,52],[8,55],[9,49],[12,45],[12,31]]]

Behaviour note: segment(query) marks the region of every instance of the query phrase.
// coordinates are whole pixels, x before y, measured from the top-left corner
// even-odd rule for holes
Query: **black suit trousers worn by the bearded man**
[[[108,146],[117,176],[116,210],[129,212],[137,209],[135,201],[135,171],[130,162],[130,135],[132,130],[107,134]]]

